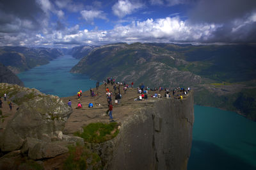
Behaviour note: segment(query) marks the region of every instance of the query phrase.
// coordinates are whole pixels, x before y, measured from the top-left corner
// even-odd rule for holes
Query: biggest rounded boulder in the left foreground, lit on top
[[[23,102],[4,130],[1,150],[19,150],[26,137],[47,142],[61,140],[61,131],[71,112],[67,104],[52,95],[37,96]]]

